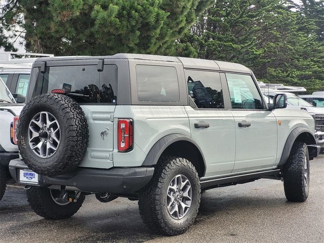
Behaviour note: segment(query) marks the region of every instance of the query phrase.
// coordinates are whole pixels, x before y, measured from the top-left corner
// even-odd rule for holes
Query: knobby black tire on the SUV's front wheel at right
[[[304,172],[307,165],[305,185]],[[288,201],[306,201],[309,192],[309,157],[308,148],[303,142],[295,142],[290,156],[284,165],[284,188]]]

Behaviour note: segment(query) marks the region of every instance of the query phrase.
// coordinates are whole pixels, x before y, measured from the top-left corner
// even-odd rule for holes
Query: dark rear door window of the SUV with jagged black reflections
[[[198,108],[224,108],[223,90],[218,72],[186,70],[188,92]]]

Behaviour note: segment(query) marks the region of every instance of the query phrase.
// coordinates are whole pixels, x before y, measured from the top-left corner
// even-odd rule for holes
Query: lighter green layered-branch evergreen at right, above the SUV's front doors
[[[258,80],[323,89],[323,42],[316,22],[281,0],[217,1],[181,38],[197,56],[238,62]]]

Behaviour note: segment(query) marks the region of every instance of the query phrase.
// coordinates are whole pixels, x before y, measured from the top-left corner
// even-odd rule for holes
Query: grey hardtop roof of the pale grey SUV
[[[197,59],[197,58],[171,57],[171,56],[159,56],[159,55],[148,55],[148,54],[129,54],[129,53],[118,53],[112,56],[41,57],[41,58],[37,58],[35,63],[44,62],[44,61],[91,60],[91,59],[141,59],[141,60],[151,60],[151,61],[177,62],[177,63],[182,63],[184,68],[209,69],[209,70],[243,72],[243,73],[252,74],[251,69],[238,63]]]

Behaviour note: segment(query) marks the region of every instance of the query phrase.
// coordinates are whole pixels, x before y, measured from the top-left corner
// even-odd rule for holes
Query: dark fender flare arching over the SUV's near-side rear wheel
[[[169,134],[167,136],[164,136],[163,138],[160,138],[150,149],[150,151],[147,153],[146,158],[142,164],[142,166],[154,166],[156,165],[159,157],[161,156],[161,154],[163,153],[164,150],[166,150],[167,147],[169,147],[169,145],[173,144],[174,142],[178,142],[178,141],[187,141],[192,143],[194,146],[197,147],[197,149],[199,150],[201,156],[203,157],[204,160],[204,165],[205,165],[205,171],[204,171],[204,175],[206,172],[206,161],[205,161],[205,157],[203,152],[201,151],[199,145],[192,140],[191,138],[183,135],[183,134],[178,134],[178,133],[174,133],[174,134]]]

